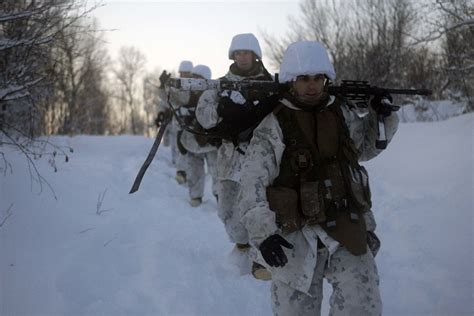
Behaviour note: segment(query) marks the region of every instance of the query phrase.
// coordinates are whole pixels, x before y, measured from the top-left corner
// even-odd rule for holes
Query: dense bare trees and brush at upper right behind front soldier
[[[473,14],[470,0],[302,0],[285,36],[263,36],[275,66],[289,43],[318,40],[339,79],[451,92],[473,111]]]

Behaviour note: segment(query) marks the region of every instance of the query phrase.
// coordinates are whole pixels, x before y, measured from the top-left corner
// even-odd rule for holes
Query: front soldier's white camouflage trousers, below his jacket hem
[[[382,314],[379,277],[370,251],[354,256],[340,247],[328,264],[327,248],[318,250],[318,259],[309,294],[272,281],[272,310],[277,316],[321,315],[323,279],[333,288],[330,297],[331,316],[371,316]]]

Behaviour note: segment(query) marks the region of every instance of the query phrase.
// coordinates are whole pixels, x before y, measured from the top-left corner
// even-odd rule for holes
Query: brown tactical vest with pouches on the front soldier
[[[336,99],[321,111],[274,112],[285,150],[280,173],[267,188],[270,208],[285,232],[319,224],[352,254],[366,253],[362,213],[370,209],[367,171]]]

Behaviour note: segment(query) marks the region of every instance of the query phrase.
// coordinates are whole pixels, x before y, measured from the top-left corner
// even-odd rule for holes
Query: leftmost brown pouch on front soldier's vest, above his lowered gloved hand
[[[267,200],[275,212],[277,225],[285,233],[292,233],[302,226],[298,212],[298,192],[286,187],[268,187]]]

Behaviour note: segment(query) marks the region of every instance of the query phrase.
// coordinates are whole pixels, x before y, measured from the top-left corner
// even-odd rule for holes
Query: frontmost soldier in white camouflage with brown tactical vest
[[[242,222],[258,260],[271,270],[275,315],[320,315],[323,279],[330,315],[381,315],[370,249],[368,175],[377,156],[377,114],[390,141],[398,117],[386,98],[366,113],[325,92],[335,71],[319,42],[291,44],[280,67],[290,90],[253,132],[242,166]],[[370,243],[372,244],[372,243]]]

